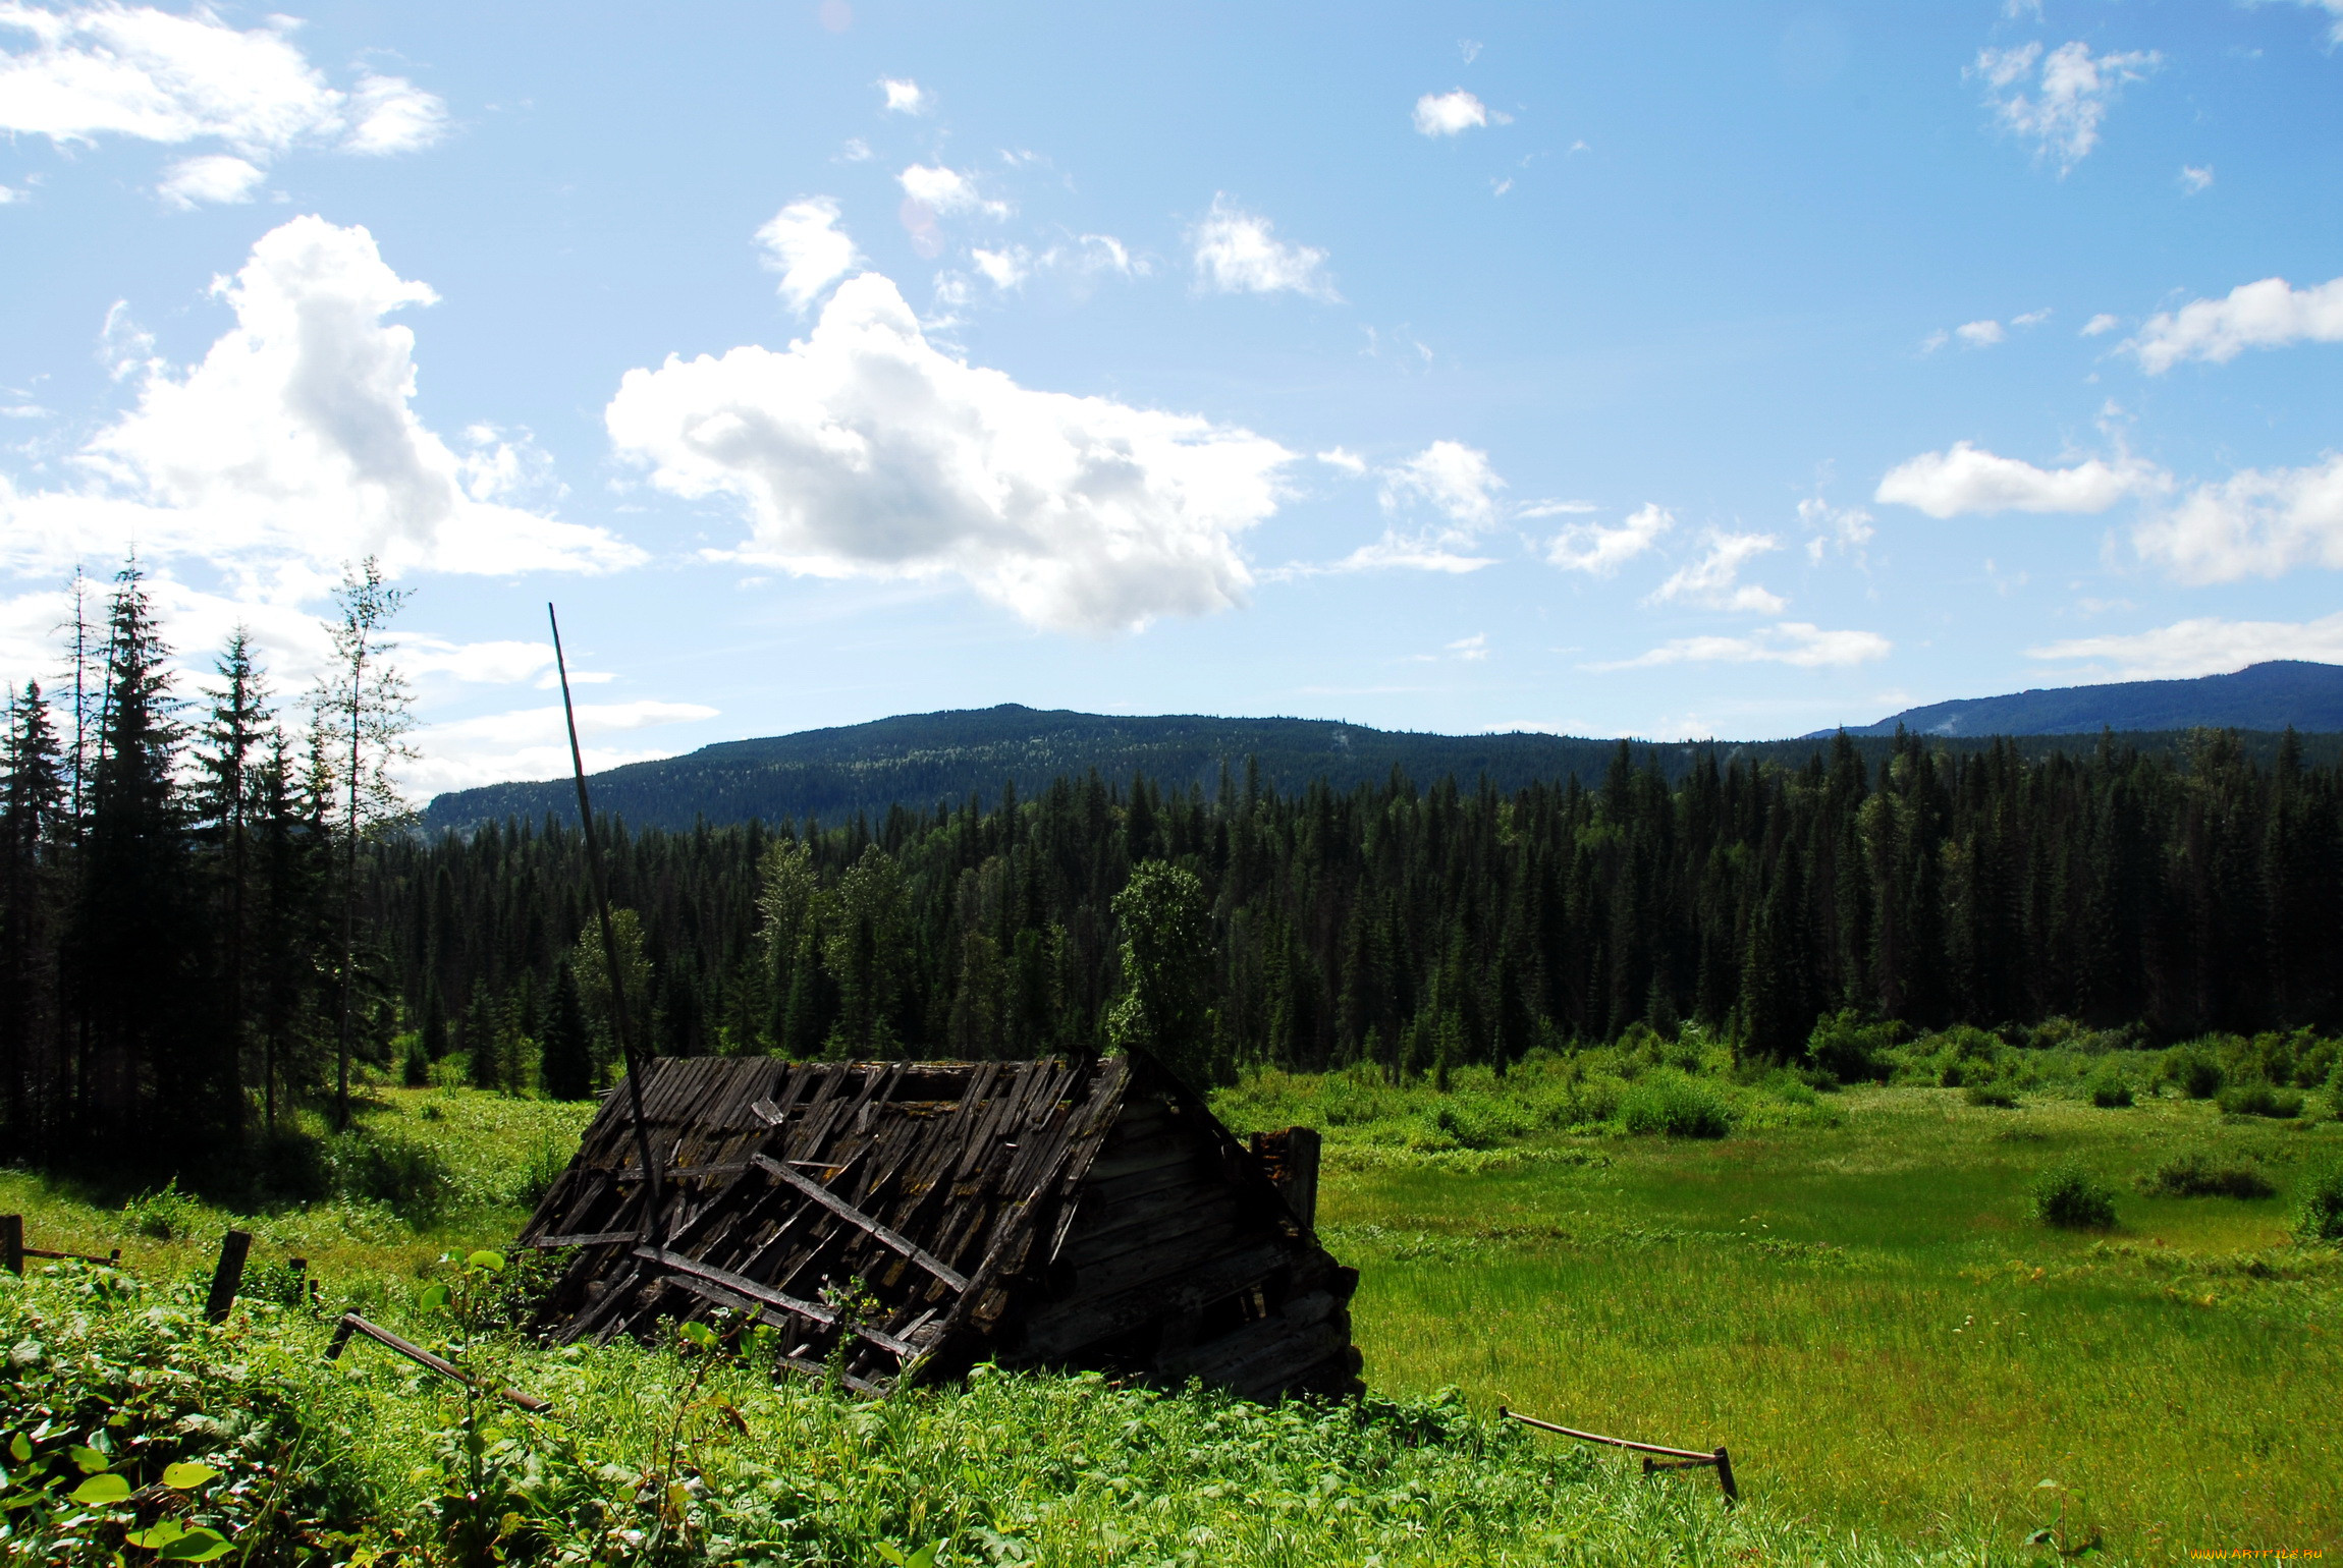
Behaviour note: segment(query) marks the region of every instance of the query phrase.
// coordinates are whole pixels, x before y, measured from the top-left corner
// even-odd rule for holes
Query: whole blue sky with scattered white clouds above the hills
[[[2343,662],[2343,0],[0,5],[0,676],[412,601],[417,791],[897,711]]]

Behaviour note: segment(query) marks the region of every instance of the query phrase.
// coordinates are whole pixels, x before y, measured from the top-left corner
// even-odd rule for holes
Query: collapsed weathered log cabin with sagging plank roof
[[[1317,1243],[1317,1135],[1244,1147],[1143,1055],[1097,1062],[663,1058],[612,1095],[525,1245],[576,1247],[537,1329],[747,1313],[785,1364],[881,1392],[1094,1367],[1272,1399],[1352,1392],[1350,1294]]]

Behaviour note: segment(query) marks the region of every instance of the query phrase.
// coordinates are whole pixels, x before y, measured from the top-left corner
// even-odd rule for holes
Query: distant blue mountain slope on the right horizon
[[[2193,681],[2057,686],[1912,707],[1849,735],[2090,735],[2097,730],[2343,730],[2343,667],[2268,660]],[[1818,735],[1830,735],[1821,730]]]

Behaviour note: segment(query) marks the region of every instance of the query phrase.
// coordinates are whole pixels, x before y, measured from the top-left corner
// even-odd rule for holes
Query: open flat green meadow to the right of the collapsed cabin
[[[1556,1140],[1471,1175],[1331,1161],[1368,1381],[1729,1444],[1748,1495],[1835,1528],[2020,1540],[2064,1509],[2127,1559],[2343,1538],[2343,1259],[2287,1229],[2343,1128],[1832,1100],[1842,1126]],[[2139,1194],[2177,1144],[2256,1156],[2280,1194]],[[2034,1219],[2062,1163],[2118,1191],[2116,1231]]]

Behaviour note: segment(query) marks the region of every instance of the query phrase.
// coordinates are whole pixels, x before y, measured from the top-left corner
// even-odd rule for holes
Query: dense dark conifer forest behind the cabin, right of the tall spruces
[[[1148,1041],[1197,1077],[1504,1065],[1701,1023],[1790,1058],[1853,1009],[2156,1037],[2334,1025],[2343,770],[2287,735],[2184,756],[1839,737],[1804,765],[1624,744],[1500,793],[1059,777],[876,821],[609,824],[626,995],[663,1053],[1033,1055]],[[607,976],[574,826],[370,850],[403,1070],[583,1093]],[[590,941],[581,941],[588,936]]]

